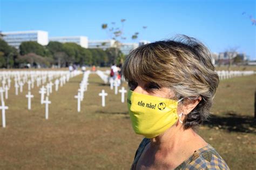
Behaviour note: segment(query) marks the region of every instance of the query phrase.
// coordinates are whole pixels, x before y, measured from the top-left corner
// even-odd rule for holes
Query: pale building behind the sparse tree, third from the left
[[[116,47],[115,40],[105,39],[105,40],[89,40],[89,49],[103,49],[106,50],[110,47]]]

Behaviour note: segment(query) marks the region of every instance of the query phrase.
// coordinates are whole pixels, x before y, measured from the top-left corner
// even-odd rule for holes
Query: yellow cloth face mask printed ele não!
[[[179,101],[129,90],[127,106],[135,133],[146,138],[154,138],[164,133],[178,120]]]

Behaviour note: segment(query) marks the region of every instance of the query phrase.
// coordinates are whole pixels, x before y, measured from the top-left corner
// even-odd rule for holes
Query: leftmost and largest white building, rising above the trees
[[[46,31],[11,31],[2,32],[2,34],[4,35],[3,40],[16,49],[22,42],[33,41],[41,45],[48,44],[48,32]]]

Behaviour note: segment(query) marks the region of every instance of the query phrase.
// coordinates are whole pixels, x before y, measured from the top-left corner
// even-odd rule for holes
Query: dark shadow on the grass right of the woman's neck
[[[253,117],[227,112],[224,115],[211,115],[204,125],[220,128],[230,132],[245,132],[256,134],[256,120]]]

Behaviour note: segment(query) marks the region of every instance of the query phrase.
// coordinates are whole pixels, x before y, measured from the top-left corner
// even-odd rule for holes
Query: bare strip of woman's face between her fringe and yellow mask
[[[174,92],[168,87],[161,87],[156,83],[146,81],[129,82],[130,90],[133,92],[156,96],[166,99],[173,99]],[[177,113],[181,113],[181,108],[178,105]]]

